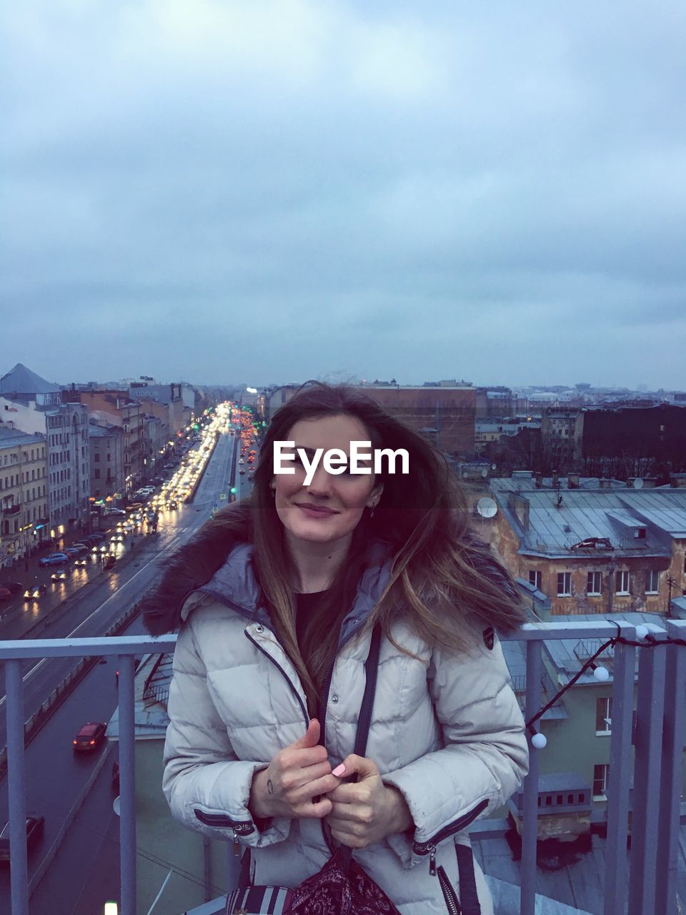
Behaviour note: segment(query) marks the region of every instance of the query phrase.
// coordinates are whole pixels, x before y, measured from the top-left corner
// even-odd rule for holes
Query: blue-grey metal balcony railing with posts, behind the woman
[[[606,784],[607,838],[605,855],[595,856],[604,857],[605,865],[601,880],[601,886],[604,884],[602,913],[672,915],[681,910],[677,899],[678,876],[680,884],[683,883],[683,874],[680,872],[678,875],[677,871],[680,860],[681,754],[686,723],[686,621],[666,619],[662,626],[651,625],[645,640],[638,638],[635,625],[613,623],[606,619],[523,626],[512,640],[521,640],[525,645],[525,716],[529,720],[541,705],[543,640],[602,640],[602,644],[615,638],[618,630],[629,643],[617,642],[614,653],[610,766]],[[675,640],[679,640],[679,643]],[[121,813],[119,911],[123,915],[135,915],[134,658],[136,655],[173,651],[175,642],[175,635],[156,639],[130,636],[0,641],[0,662],[5,665],[7,702],[12,915],[27,915],[28,912],[25,714],[21,661],[105,655],[117,658]],[[636,757],[631,784],[635,688],[638,690],[633,735]],[[519,886],[516,887],[516,893],[519,899],[515,903],[510,900],[507,907],[504,899],[496,900],[498,913],[518,911],[521,915],[534,915],[535,911],[548,911],[545,908],[546,900],[541,897],[537,899],[537,889],[541,891],[537,888],[537,881],[540,882],[541,878],[537,868],[537,837],[540,810],[544,813],[539,806],[541,752],[545,750],[531,748],[530,773],[524,782],[522,795],[515,799],[521,822],[521,856],[519,865],[510,862],[509,866],[518,871]],[[545,779],[541,779],[541,784],[547,784]],[[631,848],[627,854],[629,814],[632,823]],[[498,830],[502,834],[503,823],[498,820],[477,821],[471,831],[474,845],[488,845],[488,835],[497,835]],[[514,891],[515,887],[510,883],[509,889]],[[209,908],[203,907],[204,910]],[[217,901],[216,910],[223,910],[220,900]],[[557,905],[550,910],[581,909],[567,909]]]

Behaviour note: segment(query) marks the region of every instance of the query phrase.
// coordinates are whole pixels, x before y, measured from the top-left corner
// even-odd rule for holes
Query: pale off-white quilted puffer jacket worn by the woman
[[[302,737],[309,720],[295,668],[259,606],[251,555],[250,544],[237,545],[183,605],[163,790],[179,822],[251,847],[255,883],[295,887],[326,863],[329,851],[319,820],[274,818],[260,832],[248,810],[254,773]],[[341,627],[322,722],[334,767],[353,751],[365,685],[370,632],[356,633],[390,566],[375,544]],[[458,890],[454,842],[469,847],[466,827],[519,787],[528,769],[524,722],[492,630],[459,657],[432,650],[404,625],[393,636],[421,660],[382,640],[366,755],[384,782],[402,791],[415,829],[354,856],[402,915],[445,915],[435,867],[442,865]],[[492,903],[476,864],[475,877],[480,911],[488,915]]]

